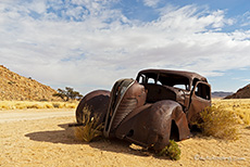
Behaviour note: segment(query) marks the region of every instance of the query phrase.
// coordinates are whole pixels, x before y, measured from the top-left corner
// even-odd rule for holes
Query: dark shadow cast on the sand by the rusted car
[[[32,132],[25,134],[25,137],[33,141],[62,144],[88,144],[91,147],[98,149],[100,151],[125,153],[139,156],[154,156],[153,152],[118,139],[105,139],[101,137],[92,142],[83,142],[75,138],[74,127],[68,127],[68,124],[58,126],[63,128],[63,130]]]

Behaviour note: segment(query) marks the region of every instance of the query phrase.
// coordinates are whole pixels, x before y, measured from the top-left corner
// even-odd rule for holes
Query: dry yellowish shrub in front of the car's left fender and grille
[[[91,116],[90,108],[83,110],[83,126],[75,127],[75,137],[79,140],[90,142],[102,134],[103,124],[99,124],[100,116]]]

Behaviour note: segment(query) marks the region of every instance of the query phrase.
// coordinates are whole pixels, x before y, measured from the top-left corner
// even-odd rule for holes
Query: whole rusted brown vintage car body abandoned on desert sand
[[[211,105],[211,87],[199,74],[145,69],[136,80],[121,79],[110,91],[88,93],[76,110],[82,124],[84,106],[100,115],[107,138],[127,140],[160,151],[170,139],[190,137],[192,123]]]

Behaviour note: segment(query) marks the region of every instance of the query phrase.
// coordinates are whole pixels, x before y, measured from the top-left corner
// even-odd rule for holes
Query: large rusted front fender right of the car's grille
[[[186,115],[182,106],[172,100],[136,108],[121,123],[115,136],[160,151],[168,144],[172,120],[177,126],[178,140],[189,138],[190,130]]]

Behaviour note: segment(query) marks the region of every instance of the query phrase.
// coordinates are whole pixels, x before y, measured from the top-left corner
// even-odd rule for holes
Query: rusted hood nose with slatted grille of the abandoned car
[[[143,86],[137,84],[137,81],[133,79],[118,80],[112,88],[111,92],[112,94],[116,95],[118,101],[115,99],[111,99],[110,101],[104,125],[105,137],[110,137],[110,132],[114,132],[121,121],[133,110],[143,105],[146,102],[146,92]]]

